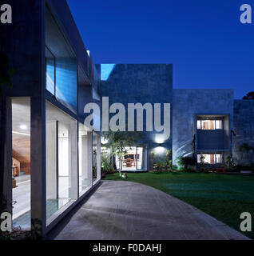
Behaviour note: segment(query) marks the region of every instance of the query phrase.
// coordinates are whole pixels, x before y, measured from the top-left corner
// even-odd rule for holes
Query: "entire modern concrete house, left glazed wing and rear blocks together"
[[[110,105],[119,102],[125,108],[161,104],[161,125],[167,122],[169,136],[154,127],[140,131],[141,143],[126,145],[126,171],[151,170],[151,152],[163,159],[172,150],[173,163],[192,154],[199,162],[204,155],[205,162],[216,165],[230,154],[241,162],[239,147],[254,146],[254,101],[234,100],[232,90],[174,90],[172,64],[95,66],[65,0],[8,3],[13,24],[4,27],[2,46],[15,71],[13,87],[5,92],[1,152],[3,195],[15,226],[46,235],[99,184],[102,116],[93,114],[92,128],[84,126],[89,102],[101,106],[109,97]],[[163,118],[164,104],[170,106],[169,122]],[[137,130],[137,123],[133,127]]]

